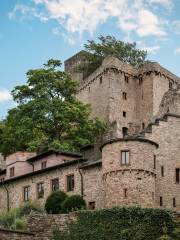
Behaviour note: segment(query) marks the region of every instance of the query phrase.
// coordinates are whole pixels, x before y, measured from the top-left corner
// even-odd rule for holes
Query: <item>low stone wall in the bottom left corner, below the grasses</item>
[[[1,240],[35,240],[34,234],[32,233],[21,232],[21,231],[11,231],[11,230],[1,229],[1,228],[0,228],[0,239]]]

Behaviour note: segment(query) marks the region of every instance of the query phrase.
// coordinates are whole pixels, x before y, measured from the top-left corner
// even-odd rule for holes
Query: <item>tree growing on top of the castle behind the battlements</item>
[[[98,39],[99,42],[89,40],[84,45],[85,51],[82,55],[86,60],[78,66],[77,70],[84,72],[85,76],[94,72],[108,56],[116,57],[134,67],[141,66],[146,60],[147,52],[137,49],[135,42],[125,43],[109,35],[100,36]]]

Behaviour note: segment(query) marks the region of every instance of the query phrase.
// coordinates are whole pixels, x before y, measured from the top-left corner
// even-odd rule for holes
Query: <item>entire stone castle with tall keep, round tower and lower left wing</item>
[[[140,68],[114,57],[90,76],[65,71],[80,81],[77,98],[108,131],[81,153],[17,152],[0,160],[0,211],[25,201],[44,204],[51,191],[80,194],[90,209],[162,207],[180,211],[180,79],[148,62]]]

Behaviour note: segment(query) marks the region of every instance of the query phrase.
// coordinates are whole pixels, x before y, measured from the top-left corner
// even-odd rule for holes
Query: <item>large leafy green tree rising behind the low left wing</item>
[[[75,97],[78,83],[61,71],[59,60],[27,72],[27,84],[12,91],[17,107],[11,109],[0,134],[1,151],[63,149],[78,151],[93,143],[105,125],[90,119],[90,106]]]

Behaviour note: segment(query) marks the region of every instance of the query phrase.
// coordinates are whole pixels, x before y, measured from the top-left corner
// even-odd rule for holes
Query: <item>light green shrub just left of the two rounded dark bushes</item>
[[[21,217],[29,215],[31,211],[34,212],[43,212],[43,209],[36,203],[27,202],[19,208],[19,215]]]

